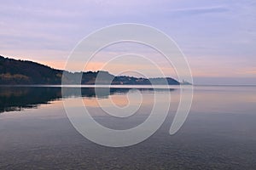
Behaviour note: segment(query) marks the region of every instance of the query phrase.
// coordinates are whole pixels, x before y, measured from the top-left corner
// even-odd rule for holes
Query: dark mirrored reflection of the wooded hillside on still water
[[[95,90],[96,89],[96,90]],[[64,98],[97,97],[108,98],[111,94],[126,94],[131,88],[63,88]],[[144,88],[140,91],[152,91]],[[168,90],[168,89],[161,89]],[[0,113],[4,111],[22,111],[25,108],[35,108],[40,104],[61,99],[61,88],[58,87],[1,87]]]

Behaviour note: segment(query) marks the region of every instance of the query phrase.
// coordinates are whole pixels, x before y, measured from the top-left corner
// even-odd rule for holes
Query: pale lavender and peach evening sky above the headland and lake
[[[256,84],[256,2],[253,0],[52,0],[0,3],[0,55],[29,59],[63,69],[84,37],[105,26],[138,23],[163,31],[189,62],[195,84]],[[152,49],[119,44],[102,50],[88,70],[96,71],[110,54],[143,52],[166,68]],[[119,60],[121,61],[121,60]],[[134,70],[133,65],[119,66]],[[143,67],[143,63],[141,64]],[[108,68],[119,73],[118,66]],[[129,73],[128,73],[129,74]],[[151,77],[154,71],[149,72]]]

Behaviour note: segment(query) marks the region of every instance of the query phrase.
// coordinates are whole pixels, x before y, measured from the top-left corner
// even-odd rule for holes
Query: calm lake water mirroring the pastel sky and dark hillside
[[[195,87],[189,116],[174,135],[169,129],[179,88],[139,88],[142,105],[125,118],[109,116],[99,107],[97,99],[102,107],[110,100],[119,107],[136,105],[137,90],[131,88],[96,95],[94,88],[84,87],[82,97],[71,90],[64,99],[59,87],[0,88],[0,169],[255,169],[256,87]],[[166,95],[166,90],[172,99],[158,101],[171,103],[164,124],[147,140],[124,148],[85,139],[63,107],[64,100],[76,107],[83,99],[97,122],[126,129],[144,122],[154,93]]]

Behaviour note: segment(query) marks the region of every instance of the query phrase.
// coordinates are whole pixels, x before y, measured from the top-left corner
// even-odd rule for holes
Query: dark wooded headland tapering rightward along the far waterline
[[[61,85],[62,73],[65,72],[65,82],[67,84],[77,84],[74,80],[75,77],[82,77],[81,84],[93,85],[96,82],[96,77],[101,74],[103,78],[98,82],[99,84],[108,84],[104,78],[109,80],[111,78],[113,85],[150,85],[165,84],[179,85],[172,77],[156,77],[156,78],[143,78],[143,77],[115,77],[108,71],[87,71],[87,72],[70,72],[51,68],[47,65],[42,65],[29,60],[9,59],[0,55],[0,85]]]

